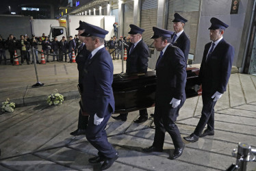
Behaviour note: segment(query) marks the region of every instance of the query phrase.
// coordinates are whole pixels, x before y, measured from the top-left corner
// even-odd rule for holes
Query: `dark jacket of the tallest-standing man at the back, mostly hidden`
[[[172,37],[173,36],[174,36],[174,34],[172,34]],[[185,63],[187,64],[188,53],[190,53],[190,39],[188,38],[188,36],[185,34],[184,31],[179,36],[179,38],[175,41],[175,43],[172,45],[179,47],[179,49],[181,49],[181,51],[183,51],[184,57],[185,57]]]

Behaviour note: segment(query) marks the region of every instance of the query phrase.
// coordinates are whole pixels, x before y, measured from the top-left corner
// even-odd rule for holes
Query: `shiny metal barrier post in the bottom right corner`
[[[246,143],[238,143],[238,149],[233,149],[232,156],[236,157],[236,163],[231,164],[226,171],[246,171],[248,161],[254,161],[256,149]]]

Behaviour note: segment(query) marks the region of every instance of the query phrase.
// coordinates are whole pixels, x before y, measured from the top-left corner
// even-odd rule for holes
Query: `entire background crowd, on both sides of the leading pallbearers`
[[[31,59],[30,49],[36,49],[36,63],[40,64],[40,60],[38,60],[38,45],[42,45],[42,52],[45,54],[46,62],[50,62],[50,56],[53,56],[51,62],[72,62],[72,53],[74,51],[75,55],[77,55],[77,49],[80,44],[81,42],[77,35],[74,38],[73,36],[68,36],[68,40],[66,40],[65,36],[62,36],[62,40],[57,40],[57,37],[49,40],[49,36],[45,36],[45,34],[42,34],[39,38],[36,38],[34,34],[32,38],[29,38],[25,34],[21,35],[18,40],[12,34],[6,40],[0,36],[0,64],[7,64],[5,50],[8,50],[10,53],[10,64],[14,65],[14,52],[16,51],[17,53],[17,50],[21,53],[21,64],[24,64],[24,62],[33,64],[34,60]],[[123,48],[128,49],[129,44],[131,44],[130,36],[120,36],[118,40],[116,36],[112,36],[109,41],[104,42],[105,47],[112,56],[112,60],[121,60]]]

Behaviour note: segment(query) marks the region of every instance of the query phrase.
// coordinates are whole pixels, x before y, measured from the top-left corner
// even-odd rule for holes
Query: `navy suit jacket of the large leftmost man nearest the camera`
[[[110,53],[105,48],[100,49],[86,62],[84,67],[82,100],[84,110],[93,117],[99,118],[114,112],[114,94],[112,90],[113,63]],[[110,107],[110,108],[109,108]]]

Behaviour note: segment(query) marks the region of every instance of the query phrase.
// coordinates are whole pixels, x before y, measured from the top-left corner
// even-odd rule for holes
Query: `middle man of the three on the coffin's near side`
[[[181,156],[184,143],[175,124],[179,116],[179,109],[185,102],[186,64],[181,49],[172,46],[170,35],[172,31],[153,27],[154,46],[161,51],[155,66],[157,86],[155,92],[155,137],[152,146],[142,148],[146,153],[162,152],[166,131],[172,137],[175,151],[168,159]]]

